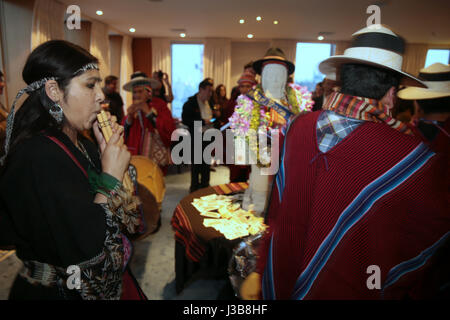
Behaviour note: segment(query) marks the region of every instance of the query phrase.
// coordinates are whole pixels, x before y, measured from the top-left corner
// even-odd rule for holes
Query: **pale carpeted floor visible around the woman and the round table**
[[[225,166],[211,172],[211,185],[228,183],[229,170]],[[198,280],[179,295],[175,293],[175,240],[170,220],[178,202],[189,193],[190,171],[170,173],[165,177],[166,195],[162,204],[161,228],[146,239],[136,242],[131,269],[150,300],[210,300],[216,299],[224,281]],[[1,261],[0,300],[8,298],[21,262],[14,253]]]

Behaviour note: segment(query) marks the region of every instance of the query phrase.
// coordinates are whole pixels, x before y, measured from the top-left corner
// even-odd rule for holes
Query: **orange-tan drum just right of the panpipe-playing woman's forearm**
[[[161,169],[145,156],[132,156],[131,164],[136,168],[138,183],[144,185],[153,194],[158,204],[158,209],[161,210],[166,192],[164,175]]]

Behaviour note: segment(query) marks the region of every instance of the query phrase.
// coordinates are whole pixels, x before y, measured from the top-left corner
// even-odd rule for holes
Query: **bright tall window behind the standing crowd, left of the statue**
[[[172,44],[172,115],[181,118],[183,104],[203,80],[203,45]]]

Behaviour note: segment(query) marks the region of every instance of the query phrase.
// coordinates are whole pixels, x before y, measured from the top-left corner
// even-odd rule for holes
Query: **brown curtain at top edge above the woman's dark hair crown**
[[[35,0],[31,50],[49,40],[64,39],[65,6],[55,0]]]

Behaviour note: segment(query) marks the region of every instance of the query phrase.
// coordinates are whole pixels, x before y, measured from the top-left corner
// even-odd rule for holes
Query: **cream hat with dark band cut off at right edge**
[[[428,100],[450,97],[450,66],[435,63],[421,69],[419,78],[428,86],[427,88],[408,87],[398,92],[403,100]]]

